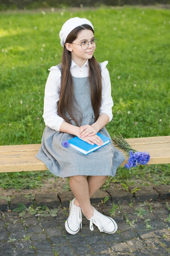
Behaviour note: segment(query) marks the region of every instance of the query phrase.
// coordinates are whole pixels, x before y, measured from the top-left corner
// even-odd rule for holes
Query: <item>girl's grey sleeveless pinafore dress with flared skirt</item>
[[[91,125],[95,122],[95,115],[91,105],[88,77],[73,77],[73,83],[76,99],[75,106],[78,109],[75,115],[76,120],[79,121],[80,125]],[[75,125],[73,120],[71,120],[71,123]],[[106,127],[99,132],[110,137]],[[125,157],[113,146],[111,141],[102,148],[88,155],[83,155],[75,148],[62,146],[63,141],[73,137],[74,135],[57,132],[46,126],[42,135],[42,144],[36,157],[44,162],[51,173],[58,177],[115,175],[117,168]]]

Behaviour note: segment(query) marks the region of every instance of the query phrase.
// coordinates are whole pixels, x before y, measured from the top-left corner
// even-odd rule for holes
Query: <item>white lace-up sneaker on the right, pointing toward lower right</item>
[[[100,232],[104,232],[107,234],[115,233],[117,231],[117,223],[115,222],[115,220],[102,213],[99,213],[99,211],[97,211],[94,207],[93,209],[94,213],[90,219],[85,216],[88,220],[90,220],[90,230],[94,230],[93,224],[95,224]]]

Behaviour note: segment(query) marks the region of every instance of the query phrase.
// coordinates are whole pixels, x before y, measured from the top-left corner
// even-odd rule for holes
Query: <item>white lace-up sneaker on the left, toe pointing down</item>
[[[69,216],[65,222],[66,231],[75,235],[82,228],[82,208],[74,204],[75,198],[70,202]]]

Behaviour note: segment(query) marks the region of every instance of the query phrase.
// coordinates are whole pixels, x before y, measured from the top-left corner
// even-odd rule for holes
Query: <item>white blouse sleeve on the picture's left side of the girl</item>
[[[57,112],[57,104],[60,98],[61,72],[56,66],[51,67],[49,71],[44,92],[44,112],[42,117],[46,126],[60,131],[60,126],[64,121]]]

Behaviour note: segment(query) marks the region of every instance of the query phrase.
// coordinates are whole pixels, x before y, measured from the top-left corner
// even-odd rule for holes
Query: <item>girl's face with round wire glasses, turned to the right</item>
[[[91,45],[91,40],[94,38],[94,34],[91,30],[83,29],[79,32],[73,43],[66,43],[66,48],[71,52],[72,60],[79,67],[82,67],[87,59],[92,58],[95,47]],[[81,44],[83,44],[85,40],[88,41],[88,48],[83,50]]]

